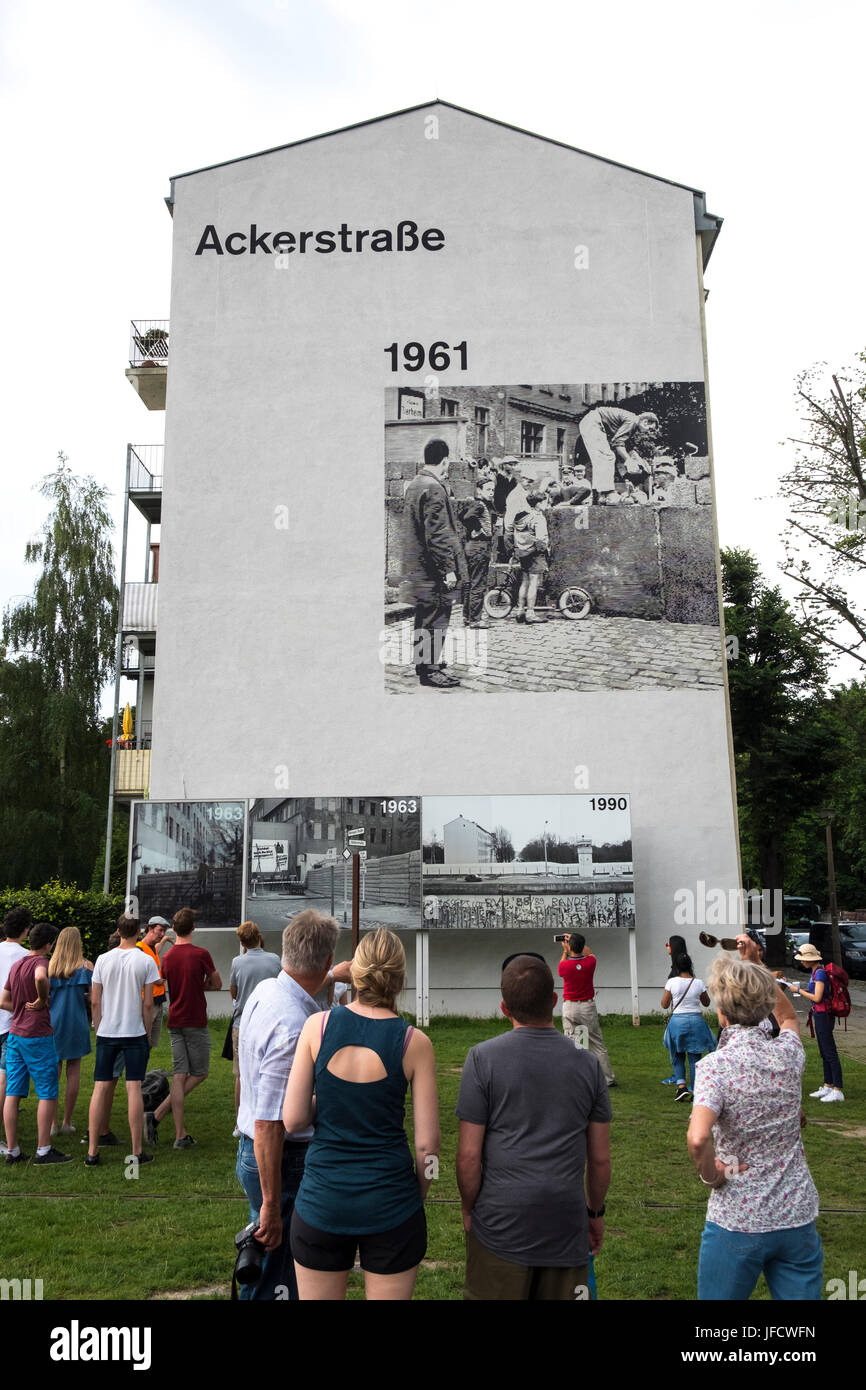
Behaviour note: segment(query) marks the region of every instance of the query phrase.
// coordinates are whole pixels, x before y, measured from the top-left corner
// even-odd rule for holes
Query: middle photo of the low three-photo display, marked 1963
[[[286,796],[250,802],[246,915],[282,931],[303,908],[352,922],[360,853],[361,930],[421,924],[418,796]]]

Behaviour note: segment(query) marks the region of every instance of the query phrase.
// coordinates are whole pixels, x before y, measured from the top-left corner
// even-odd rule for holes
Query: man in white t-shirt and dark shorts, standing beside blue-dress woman
[[[111,1097],[114,1094],[114,1062],[122,1052],[126,1063],[126,1106],[132,1158],[150,1163],[153,1154],[142,1151],[145,1106],[142,1081],[150,1056],[150,1027],[153,1023],[153,986],[160,972],[143,951],[138,951],[138,917],[121,917],[117,923],[120,945],[99,956],[93,969],[90,1009],[96,1029],[96,1062],[93,1066],[93,1098],[85,1163],[99,1163],[99,1136],[108,1129]]]

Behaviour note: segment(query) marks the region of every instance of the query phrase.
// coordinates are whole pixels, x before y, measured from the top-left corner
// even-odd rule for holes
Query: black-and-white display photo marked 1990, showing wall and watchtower
[[[634,926],[627,795],[425,796],[430,930]]]

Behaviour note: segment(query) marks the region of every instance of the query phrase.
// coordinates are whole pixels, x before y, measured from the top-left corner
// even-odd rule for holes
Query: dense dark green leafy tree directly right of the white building
[[[824,702],[826,659],[753,555],[723,550],[721,577],[726,635],[738,644],[728,688],[744,880],[784,892],[792,827],[820,806],[838,758]],[[784,965],[781,935],[767,937],[767,963]]]

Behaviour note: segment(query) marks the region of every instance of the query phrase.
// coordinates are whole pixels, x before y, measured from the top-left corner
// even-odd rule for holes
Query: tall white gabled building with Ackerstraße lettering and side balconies
[[[411,673],[386,688],[384,577],[402,570],[382,498],[398,516],[434,434],[466,498],[481,457],[559,475],[599,406],[691,386],[703,400],[720,218],[699,189],[446,101],[178,175],[168,206],[170,318],[136,320],[126,371],[167,414],[164,455],[128,455],[147,537],[143,555],[124,549],[118,673],[138,698],[113,795],[318,799],[256,817],[263,841],[285,837],[291,873],[338,847],[325,803],[360,808],[370,787],[628,792],[637,960],[660,980],[674,892],[740,885],[708,431],[705,455],[677,464],[688,507],[550,528],[552,573],[592,589],[592,623],[553,612],[525,642],[500,627],[525,678],[492,699],[420,692]],[[644,681],[664,642],[676,660]],[[388,827],[357,816],[373,851]],[[507,952],[480,935],[431,941],[434,1012],[491,1012]],[[532,934],[507,949],[521,944]],[[631,1011],[626,933],[605,960],[602,1008]]]

